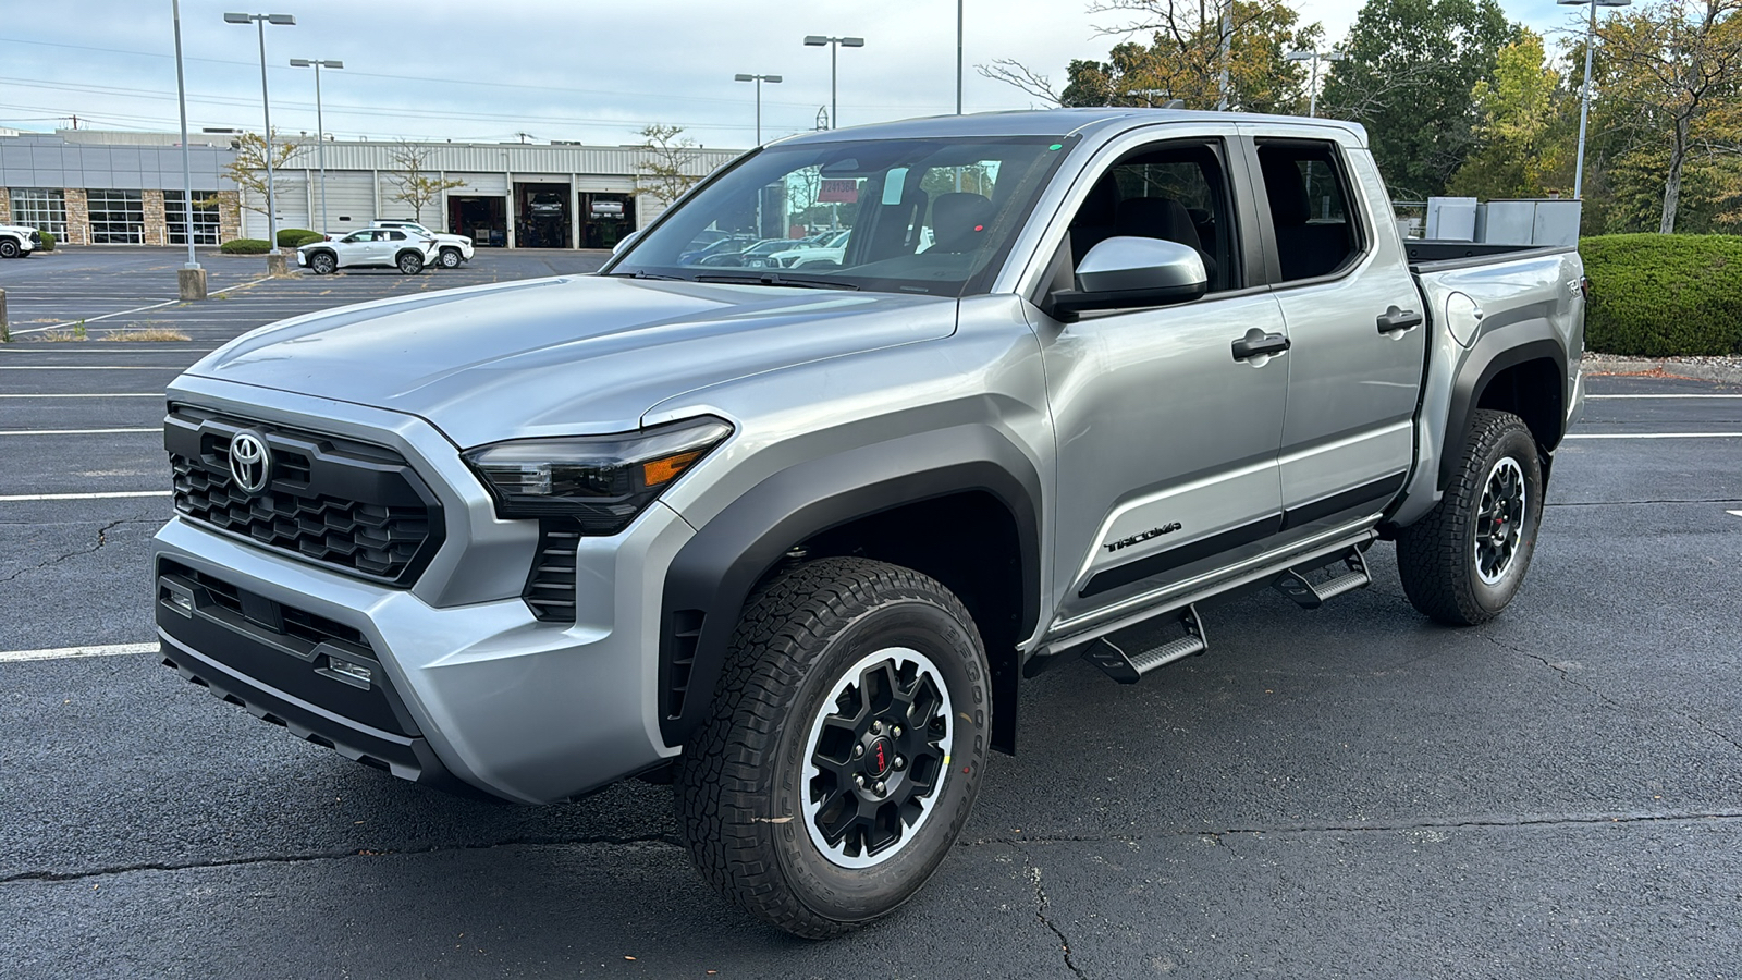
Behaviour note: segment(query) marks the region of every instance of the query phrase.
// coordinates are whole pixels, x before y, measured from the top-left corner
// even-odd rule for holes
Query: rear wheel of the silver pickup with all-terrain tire
[[[1510,497],[1523,488],[1523,500]],[[1488,623],[1512,602],[1542,525],[1542,459],[1524,420],[1477,410],[1444,497],[1397,534],[1404,595],[1448,626]]]

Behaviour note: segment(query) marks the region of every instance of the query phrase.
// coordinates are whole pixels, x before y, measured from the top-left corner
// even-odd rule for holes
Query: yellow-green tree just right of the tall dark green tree
[[[1470,91],[1475,150],[1448,190],[1463,197],[1547,197],[1573,183],[1578,99],[1545,65],[1542,35],[1521,31],[1500,49],[1493,80]]]

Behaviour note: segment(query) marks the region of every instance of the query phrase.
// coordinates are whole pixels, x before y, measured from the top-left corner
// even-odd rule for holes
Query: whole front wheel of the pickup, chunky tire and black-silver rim
[[[979,790],[986,652],[918,572],[824,558],[746,605],[676,795],[702,875],[758,919],[827,938],[911,898]]]

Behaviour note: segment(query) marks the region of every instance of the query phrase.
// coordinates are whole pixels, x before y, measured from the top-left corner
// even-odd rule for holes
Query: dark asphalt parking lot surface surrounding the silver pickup
[[[68,251],[0,263],[0,286],[61,323],[87,309],[63,269],[143,298],[165,276],[172,295],[179,262]],[[833,943],[721,903],[662,786],[456,799],[150,652],[7,659],[153,640],[160,392],[204,350],[589,262],[237,269],[228,300],[99,321],[188,342],[0,347],[0,977],[1737,977],[1739,385],[1590,378],[1529,579],[1488,626],[1415,614],[1381,544],[1373,588],[1313,612],[1216,607],[1209,654],[1143,684],[1085,664],[1030,682],[1021,752],[993,757],[937,879]],[[44,499],[61,493],[105,497]]]

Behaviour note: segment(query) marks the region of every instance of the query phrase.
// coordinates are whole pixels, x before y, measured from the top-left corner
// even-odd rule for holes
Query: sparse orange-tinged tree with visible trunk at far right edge
[[[1690,164],[1742,153],[1742,0],[1662,0],[1599,28],[1604,96],[1634,164],[1662,160],[1658,232],[1676,230]],[[1716,171],[1733,167],[1711,167]]]

